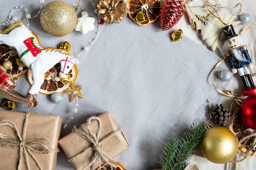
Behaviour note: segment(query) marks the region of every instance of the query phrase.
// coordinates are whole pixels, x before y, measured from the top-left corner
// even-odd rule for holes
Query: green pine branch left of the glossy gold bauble
[[[164,150],[162,150],[159,161],[164,170],[180,170],[206,130],[202,123],[191,125],[191,129],[192,132],[184,132],[184,138],[181,137],[180,140],[177,137],[173,140],[168,138],[168,143],[164,144]]]

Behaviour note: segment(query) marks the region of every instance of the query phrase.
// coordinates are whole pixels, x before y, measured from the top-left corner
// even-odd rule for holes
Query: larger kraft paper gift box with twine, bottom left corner
[[[61,122],[56,115],[0,110],[0,169],[55,170]]]

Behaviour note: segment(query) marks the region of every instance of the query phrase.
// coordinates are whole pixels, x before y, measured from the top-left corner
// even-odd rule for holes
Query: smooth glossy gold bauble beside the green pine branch
[[[204,132],[200,149],[206,159],[213,163],[226,163],[236,156],[238,140],[227,128],[213,127]]]

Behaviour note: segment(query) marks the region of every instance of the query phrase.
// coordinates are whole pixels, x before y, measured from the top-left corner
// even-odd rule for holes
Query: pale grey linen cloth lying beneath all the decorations
[[[64,1],[71,5],[78,4],[76,0]],[[48,2],[50,0],[45,0],[45,4]],[[252,9],[253,5],[249,2],[252,3],[245,0],[243,5]],[[26,7],[32,16],[40,7],[39,0],[2,0],[0,3],[1,23],[7,20],[9,12],[16,6]],[[97,17],[89,0],[81,0],[81,3],[84,10],[94,18]],[[204,2],[193,2],[195,6],[200,3]],[[235,4],[235,1],[232,1],[232,4]],[[21,14],[23,11],[17,10],[13,15],[20,18],[25,16]],[[80,17],[81,11],[77,11],[77,15]],[[26,21],[23,22],[26,25]],[[97,24],[95,22],[96,28],[85,35],[73,31],[65,37],[53,37],[43,30],[38,16],[29,20],[29,29],[36,33],[42,47],[58,48],[61,42],[68,41],[71,44],[70,52],[77,57],[83,48],[92,42],[97,33]],[[173,42],[171,32],[176,29],[182,29],[184,35],[182,40]],[[202,44],[196,31],[191,29],[185,14],[182,20],[168,31],[162,31],[159,21],[148,26],[139,26],[128,17],[119,24],[101,25],[99,37],[94,45],[77,57],[80,64],[77,64],[79,74],[75,85],[83,85],[83,99],[78,99],[79,111],[68,126],[61,130],[61,137],[69,134],[73,126],[85,123],[90,116],[108,111],[123,128],[130,145],[128,150],[114,160],[128,170],[160,168],[159,157],[168,137],[173,139],[183,136],[191,124],[209,120],[207,98],[213,105],[219,104],[220,101],[231,103],[234,100],[223,99],[211,85],[210,72],[221,57]],[[224,63],[222,69],[229,67]],[[214,75],[214,82],[219,85],[217,72]],[[229,83],[224,82],[222,86],[226,88]],[[26,95],[29,88],[26,76],[23,76],[18,79],[14,90]],[[64,125],[72,116],[76,101],[70,103],[67,94],[63,94],[63,97],[63,102],[54,104],[50,96],[38,94],[38,106],[27,108],[24,104],[17,103],[13,110],[59,115]],[[226,166],[201,158],[191,160],[198,161],[202,170]],[[240,166],[239,169],[253,169],[252,160],[255,158],[247,160],[250,166]],[[72,169],[64,152],[59,152],[56,170]]]

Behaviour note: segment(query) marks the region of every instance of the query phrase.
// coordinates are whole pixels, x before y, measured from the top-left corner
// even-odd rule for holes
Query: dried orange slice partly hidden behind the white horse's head
[[[54,48],[47,47],[44,49],[54,49]],[[57,63],[55,64],[54,67],[52,67],[45,73],[45,76],[44,76],[45,79],[42,86],[39,89],[39,93],[42,93],[44,95],[52,95],[53,93],[56,93],[56,92],[63,93],[63,91],[70,86],[69,82],[67,82],[66,84],[63,84],[60,81],[59,82],[55,81],[55,78],[59,77],[60,71],[61,71],[61,64]],[[78,74],[76,64],[73,65],[73,68],[71,68],[68,74],[70,75],[70,81],[75,82]],[[29,83],[32,85],[33,75],[32,75],[31,69],[28,69],[27,71],[27,79]]]

